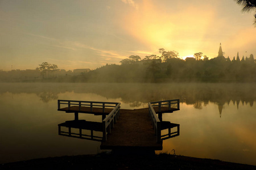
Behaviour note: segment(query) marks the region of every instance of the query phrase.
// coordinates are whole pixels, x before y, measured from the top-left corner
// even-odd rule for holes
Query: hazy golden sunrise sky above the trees
[[[253,12],[233,0],[0,0],[0,70],[96,69],[175,50],[256,58]]]

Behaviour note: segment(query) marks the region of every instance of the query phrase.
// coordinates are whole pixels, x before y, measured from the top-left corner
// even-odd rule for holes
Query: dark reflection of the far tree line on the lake
[[[222,106],[227,103],[249,104],[256,100],[255,83],[1,83],[0,94],[28,93],[42,101],[56,100],[64,92],[93,93],[106,99],[121,99],[131,107],[148,101],[180,99],[181,103],[203,108],[209,102]],[[84,96],[84,100],[90,100]],[[221,111],[220,111],[221,112]]]

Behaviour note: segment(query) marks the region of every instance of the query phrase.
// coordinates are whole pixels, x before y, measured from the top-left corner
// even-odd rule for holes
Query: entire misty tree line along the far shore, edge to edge
[[[48,62],[35,70],[0,71],[2,82],[118,82],[118,83],[170,83],[170,82],[256,82],[256,64],[253,54],[233,59],[209,59],[202,52],[193,57],[179,58],[179,53],[159,49],[160,55],[129,56],[121,65],[108,65],[96,70],[75,69],[65,71]]]

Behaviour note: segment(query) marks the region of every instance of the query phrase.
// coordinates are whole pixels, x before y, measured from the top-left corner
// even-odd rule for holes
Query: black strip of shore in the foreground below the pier
[[[1,164],[0,169],[256,169],[254,165],[222,162],[188,156],[159,155],[79,155],[32,159]]]

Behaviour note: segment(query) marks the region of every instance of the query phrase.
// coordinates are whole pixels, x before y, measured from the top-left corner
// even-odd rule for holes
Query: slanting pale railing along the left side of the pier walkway
[[[120,116],[120,104],[118,103],[115,108],[113,109],[112,112],[106,116],[106,118],[102,121],[102,126],[103,126],[103,138],[102,141],[106,141],[106,135],[107,133],[111,132],[111,129],[114,128],[114,124],[117,122],[117,119]]]

